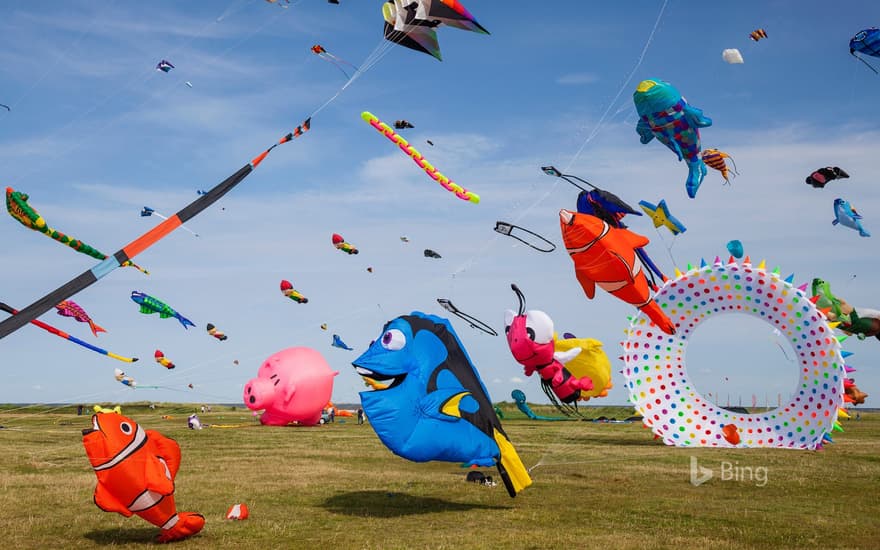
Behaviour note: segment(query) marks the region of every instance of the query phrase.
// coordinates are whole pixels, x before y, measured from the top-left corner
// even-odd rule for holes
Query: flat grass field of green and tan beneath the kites
[[[553,414],[535,407],[538,414]],[[354,419],[313,428],[254,425],[214,406],[123,407],[178,441],[181,511],[207,518],[180,548],[877,548],[880,413],[843,421],[821,452],[677,449],[639,424],[537,422],[503,407],[534,485],[465,482],[457,464],[391,454]],[[588,409],[623,418],[624,408]],[[163,415],[173,416],[170,420]],[[345,422],[339,422],[345,420]],[[158,529],[92,502],[95,474],[74,407],[0,407],[0,526],[8,548],[140,548]],[[713,471],[690,483],[691,457]],[[483,469],[485,473],[490,472]],[[766,475],[764,475],[766,474]],[[244,502],[251,517],[224,519]]]

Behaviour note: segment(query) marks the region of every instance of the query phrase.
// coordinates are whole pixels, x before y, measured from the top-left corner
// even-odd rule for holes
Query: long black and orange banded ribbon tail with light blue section
[[[282,137],[280,140],[278,140],[277,143],[273,144],[271,147],[254,157],[249,163],[239,168],[237,172],[215,185],[204,195],[200,195],[199,198],[184,206],[179,212],[177,212],[177,214],[169,217],[156,227],[150,229],[137,239],[128,243],[121,250],[117,251],[116,254],[113,254],[102,262],[99,262],[92,269],[80,273],[70,281],[64,283],[52,292],[46,294],[45,296],[27,306],[20,312],[16,313],[9,319],[0,322],[0,339],[9,336],[24,325],[35,320],[40,315],[55,307],[55,304],[61,303],[62,300],[66,300],[77,292],[88,288],[89,286],[97,282],[98,279],[100,279],[101,277],[104,277],[117,267],[124,265],[125,262],[130,262],[132,258],[137,256],[147,248],[156,244],[156,242],[158,242],[162,237],[165,237],[188,220],[197,216],[202,210],[220,200],[223,195],[225,195],[226,193],[231,191],[236,185],[241,183],[242,180],[244,180],[244,178],[248,176],[248,174],[250,174],[261,162],[263,162],[263,159],[266,158],[266,156],[272,151],[272,149],[278,147],[283,143],[287,143],[288,141],[298,138],[299,136],[307,132],[311,127],[311,120],[311,117],[307,118],[292,132]]]

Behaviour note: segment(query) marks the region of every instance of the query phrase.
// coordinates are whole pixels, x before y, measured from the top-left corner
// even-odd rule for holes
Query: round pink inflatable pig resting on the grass
[[[311,348],[287,348],[263,361],[244,387],[244,404],[258,411],[260,423],[286,426],[296,422],[315,426],[333,392],[333,377],[339,374],[324,357]]]

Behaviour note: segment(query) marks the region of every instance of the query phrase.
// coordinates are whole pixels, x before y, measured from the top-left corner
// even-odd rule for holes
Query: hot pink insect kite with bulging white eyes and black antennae
[[[593,389],[593,380],[589,376],[576,377],[565,366],[581,349],[574,347],[567,352],[557,352],[550,316],[543,311],[526,311],[525,297],[520,289],[513,284],[510,288],[519,298],[519,313],[509,309],[504,312],[504,332],[510,353],[523,366],[526,376],[538,373],[544,393],[557,408],[568,414],[560,402],[576,404],[581,391]]]

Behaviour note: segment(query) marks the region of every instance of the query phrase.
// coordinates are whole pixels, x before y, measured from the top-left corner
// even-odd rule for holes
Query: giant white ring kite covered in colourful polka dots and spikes
[[[689,266],[690,267],[690,266]],[[634,317],[624,345],[623,370],[630,401],[667,445],[679,447],[782,447],[816,449],[843,406],[846,377],[840,342],[825,316],[793,276],[768,272],[731,258],[722,265],[701,262],[668,281],[654,300],[675,323],[676,334],[659,330],[644,314]],[[688,338],[700,323],[725,313],[744,313],[778,329],[797,355],[796,391],[788,403],[760,414],[739,414],[705,399],[685,366]],[[740,442],[724,437],[733,424]],[[729,429],[730,430],[730,429]],[[829,434],[829,435],[826,435]]]

